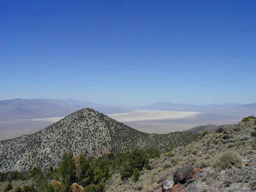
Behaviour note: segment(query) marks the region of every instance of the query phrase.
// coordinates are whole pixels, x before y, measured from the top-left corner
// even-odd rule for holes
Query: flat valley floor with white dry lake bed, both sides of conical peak
[[[220,114],[191,111],[134,110],[133,112],[108,114],[109,117],[147,133],[183,131],[198,125],[235,124],[241,118],[228,118]],[[14,119],[0,121],[0,140],[32,134],[64,117]]]

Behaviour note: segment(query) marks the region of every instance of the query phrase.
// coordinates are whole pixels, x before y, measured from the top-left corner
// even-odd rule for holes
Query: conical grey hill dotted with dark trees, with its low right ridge
[[[65,151],[73,152],[74,156],[119,153],[135,146],[164,151],[197,138],[192,132],[147,134],[85,108],[34,134],[1,141],[0,172],[28,170],[32,166],[42,170],[57,167]]]

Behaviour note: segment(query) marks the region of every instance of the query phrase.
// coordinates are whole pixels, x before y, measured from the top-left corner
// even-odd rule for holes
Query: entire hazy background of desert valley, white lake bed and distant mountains
[[[160,102],[144,106],[122,106],[73,99],[1,100],[0,140],[35,133],[50,126],[53,120],[58,121],[83,108],[94,108],[136,130],[158,134],[188,130],[198,125],[237,124],[246,116],[256,115],[255,103],[193,105]],[[138,113],[138,111],[145,111],[145,113]],[[177,113],[194,115],[179,116]]]

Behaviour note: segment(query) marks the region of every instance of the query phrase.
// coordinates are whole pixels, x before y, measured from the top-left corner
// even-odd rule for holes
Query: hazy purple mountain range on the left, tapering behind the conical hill
[[[100,112],[123,112],[122,106],[84,102],[79,100],[13,99],[0,101],[0,120],[22,118],[45,118],[66,116],[83,108],[95,108]],[[126,109],[127,110],[127,109]]]

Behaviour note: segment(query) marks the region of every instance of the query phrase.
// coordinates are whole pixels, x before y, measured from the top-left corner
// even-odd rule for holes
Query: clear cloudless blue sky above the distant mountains
[[[0,1],[0,100],[256,102],[256,1]]]

